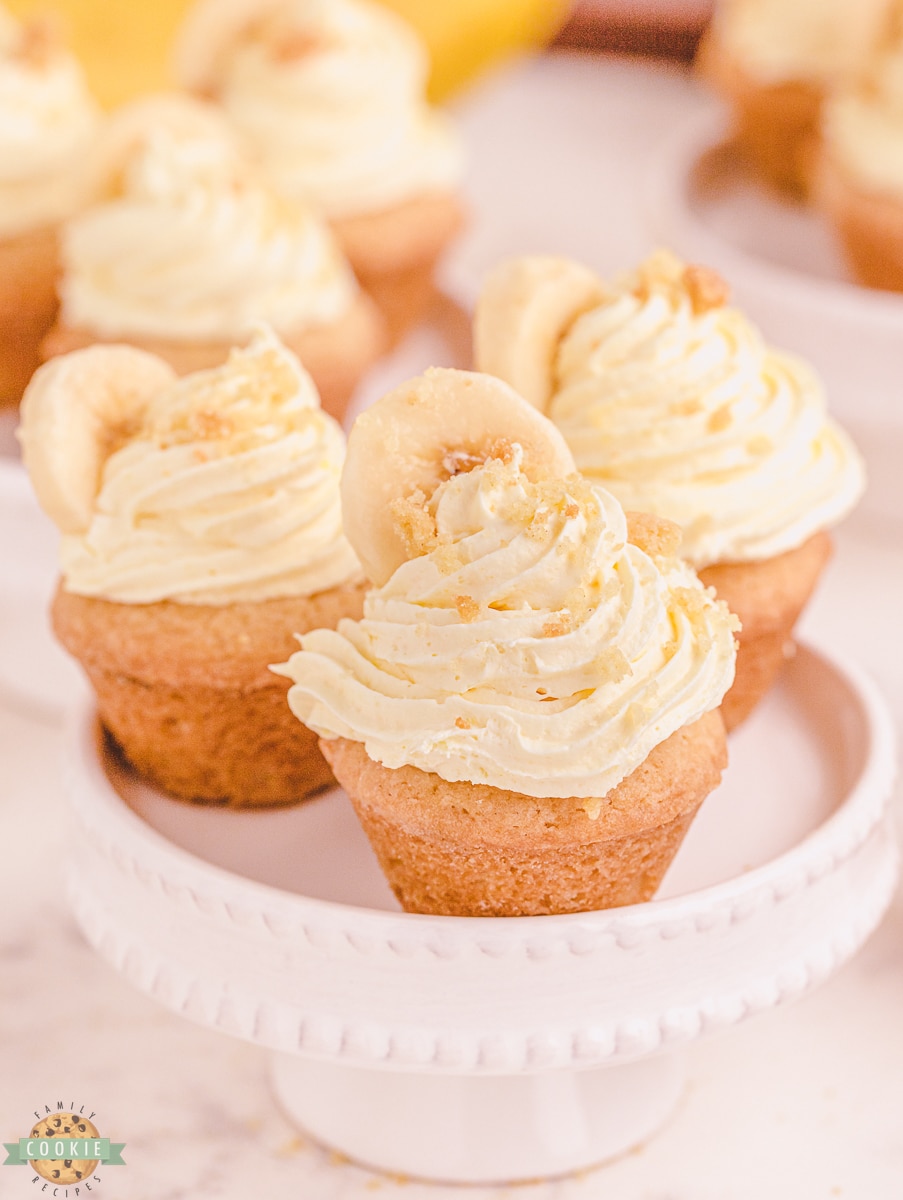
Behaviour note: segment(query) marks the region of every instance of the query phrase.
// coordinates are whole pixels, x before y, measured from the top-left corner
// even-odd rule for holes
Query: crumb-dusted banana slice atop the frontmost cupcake
[[[342,520],[369,578],[379,587],[413,557],[399,502],[429,499],[452,475],[515,443],[534,482],[576,470],[551,421],[492,376],[432,367],[361,413],[348,434]]]

